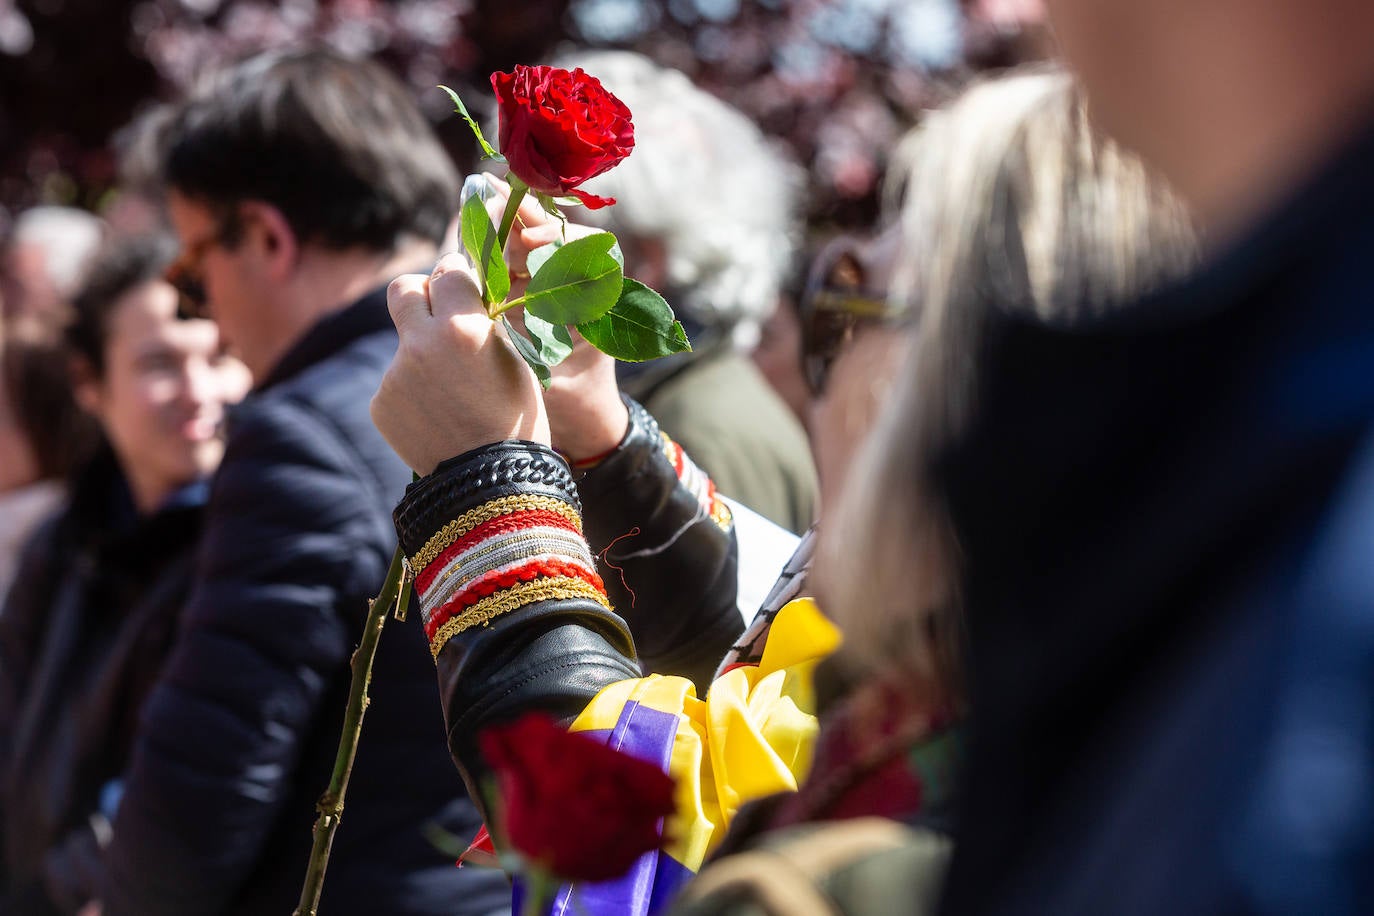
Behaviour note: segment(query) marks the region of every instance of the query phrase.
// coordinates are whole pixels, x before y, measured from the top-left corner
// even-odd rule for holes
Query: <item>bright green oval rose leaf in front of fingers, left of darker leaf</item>
[[[616,236],[598,232],[559,246],[530,277],[521,305],[550,324],[594,321],[616,305],[624,272]]]

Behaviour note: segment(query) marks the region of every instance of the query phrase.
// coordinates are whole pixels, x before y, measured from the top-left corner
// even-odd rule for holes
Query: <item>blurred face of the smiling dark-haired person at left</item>
[[[77,386],[143,512],[218,466],[224,407],[249,387],[214,323],[176,312],[177,293],[161,280],[126,293],[109,317],[104,371]]]

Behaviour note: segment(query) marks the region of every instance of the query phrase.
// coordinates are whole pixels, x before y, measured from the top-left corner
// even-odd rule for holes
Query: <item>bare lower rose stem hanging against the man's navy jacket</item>
[[[305,869],[305,886],[301,887],[301,902],[295,908],[294,916],[315,916],[320,905],[320,891],[324,890],[324,869],[330,865],[330,847],[334,845],[334,831],[338,829],[339,818],[344,816],[344,792],[348,791],[348,777],[353,772],[353,757],[357,754],[357,740],[363,733],[363,713],[367,711],[367,688],[372,681],[372,658],[376,655],[376,643],[382,636],[382,625],[386,623],[386,612],[393,604],[398,604],[403,589],[409,588],[405,578],[405,558],[401,548],[396,548],[392,555],[392,566],[386,571],[386,581],[382,591],[372,599],[367,611],[367,622],[363,625],[363,641],[353,652],[349,667],[353,669],[353,680],[349,683],[348,711],[344,714],[344,735],[339,736],[339,750],[334,757],[334,773],[330,776],[330,786],[320,795],[315,810],[320,816],[315,820],[315,845],[311,849],[311,864]]]

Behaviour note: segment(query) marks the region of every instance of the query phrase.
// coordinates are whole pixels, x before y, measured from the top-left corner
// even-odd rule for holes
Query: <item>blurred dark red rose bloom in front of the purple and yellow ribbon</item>
[[[506,842],[562,880],[620,878],[662,846],[673,780],[658,766],[530,713],[482,732]]]

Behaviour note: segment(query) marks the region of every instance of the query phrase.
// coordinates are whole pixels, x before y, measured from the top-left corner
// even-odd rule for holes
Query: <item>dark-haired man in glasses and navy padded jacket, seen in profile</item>
[[[107,916],[289,913],[338,742],[348,661],[409,471],[368,401],[396,349],[385,286],[427,266],[452,165],[400,84],[324,51],[220,74],[162,128],[184,286],[253,374],[229,420],[184,629],[114,823]],[[491,913],[496,873],[431,836],[478,818],[441,739],[425,636],[375,666],[327,913]]]

